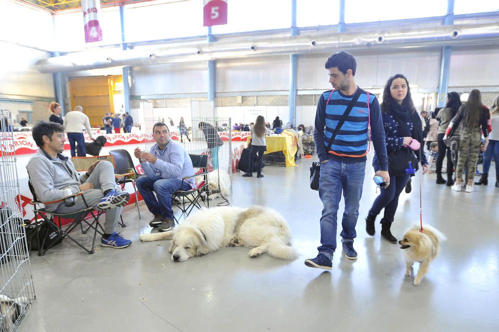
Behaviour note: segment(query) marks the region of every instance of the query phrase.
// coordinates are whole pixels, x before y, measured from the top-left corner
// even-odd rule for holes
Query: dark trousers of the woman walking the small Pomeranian
[[[384,222],[393,222],[397,206],[399,205],[399,196],[409,181],[409,174],[401,176],[390,175],[390,185],[388,188],[381,188],[381,193],[374,200],[369,214],[377,216],[381,210],[385,209],[383,217]]]

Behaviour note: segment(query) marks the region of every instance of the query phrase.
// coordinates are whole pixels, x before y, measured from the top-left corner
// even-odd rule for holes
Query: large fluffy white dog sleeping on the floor
[[[183,262],[203,256],[220,247],[252,248],[250,257],[264,253],[282,259],[298,257],[289,246],[291,231],[284,218],[272,209],[222,206],[202,209],[189,216],[174,231],[140,235],[141,241],[158,241],[173,237],[172,261]]]

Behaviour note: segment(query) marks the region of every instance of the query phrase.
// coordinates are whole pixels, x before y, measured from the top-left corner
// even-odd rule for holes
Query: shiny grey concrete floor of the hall
[[[173,263],[170,241],[138,240],[150,231],[145,204],[140,223],[128,206],[128,227],[118,231],[134,241],[131,247],[99,247],[88,255],[65,241],[43,257],[31,256],[37,301],[20,331],[499,331],[494,181],[469,194],[436,185],[435,174],[423,177],[424,222],[449,239],[415,287],[404,277],[399,246],[380,240],[379,224],[374,237],[364,230],[377,194],[369,164],[354,244],[358,260],[338,250],[331,272],[303,264],[317,253],[322,204],[308,186],[310,160],[297,164],[267,166],[262,179],[235,174],[231,197],[236,206],[281,212],[300,253],[296,261],[250,259],[247,248],[222,248]],[[393,233],[400,238],[417,223],[419,188],[401,195]]]

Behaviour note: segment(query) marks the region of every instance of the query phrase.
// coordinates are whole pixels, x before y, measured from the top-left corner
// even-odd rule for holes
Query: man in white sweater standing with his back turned
[[[66,114],[64,118],[64,128],[66,128],[67,139],[71,147],[71,157],[76,157],[76,144],[78,144],[78,157],[86,157],[83,127],[85,127],[88,136],[93,140],[90,120],[83,113],[83,107],[77,105],[74,111]]]

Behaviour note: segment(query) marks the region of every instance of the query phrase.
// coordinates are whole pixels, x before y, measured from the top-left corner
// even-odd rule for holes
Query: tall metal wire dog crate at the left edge
[[[36,300],[12,136],[12,117],[0,110],[0,331],[16,331]]]

